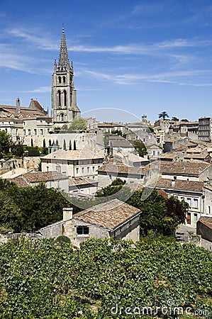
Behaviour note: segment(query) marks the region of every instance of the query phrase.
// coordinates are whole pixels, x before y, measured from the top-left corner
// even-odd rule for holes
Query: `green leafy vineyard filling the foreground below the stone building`
[[[0,246],[0,318],[212,318],[212,255],[145,238]],[[177,314],[176,314],[177,313]]]

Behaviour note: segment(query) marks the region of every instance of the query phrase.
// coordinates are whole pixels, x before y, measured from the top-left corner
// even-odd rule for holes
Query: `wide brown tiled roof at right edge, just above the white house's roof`
[[[182,175],[197,175],[201,174],[205,169],[208,169],[211,164],[206,162],[161,162],[160,171],[162,174],[182,174]]]

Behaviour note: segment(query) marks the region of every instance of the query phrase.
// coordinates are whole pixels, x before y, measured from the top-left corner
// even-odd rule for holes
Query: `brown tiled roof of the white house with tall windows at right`
[[[156,184],[160,189],[175,189],[181,191],[203,191],[203,181],[184,181],[176,179],[174,186],[172,186],[172,179],[159,179]]]

